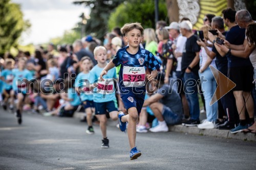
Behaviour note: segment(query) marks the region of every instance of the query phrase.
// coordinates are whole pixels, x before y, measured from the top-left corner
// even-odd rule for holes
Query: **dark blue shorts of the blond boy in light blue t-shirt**
[[[94,106],[95,106],[95,114],[106,114],[107,112],[106,110],[108,110],[109,113],[113,111],[118,111],[114,101],[102,102],[102,103],[94,102]]]

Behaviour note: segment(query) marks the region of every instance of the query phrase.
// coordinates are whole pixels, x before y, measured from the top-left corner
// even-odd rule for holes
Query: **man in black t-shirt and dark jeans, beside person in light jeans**
[[[197,126],[200,124],[197,80],[199,79],[199,52],[201,48],[197,44],[197,36],[192,32],[192,24],[190,21],[185,20],[180,23],[180,32],[182,36],[187,38],[182,53],[181,71],[184,75],[183,80],[185,82],[185,95],[188,101],[190,112],[190,119],[183,125]]]

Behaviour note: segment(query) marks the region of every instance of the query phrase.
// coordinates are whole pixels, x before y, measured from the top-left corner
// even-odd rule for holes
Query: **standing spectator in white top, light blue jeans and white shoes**
[[[211,27],[209,25],[205,25],[201,28],[201,30],[204,33],[204,40],[210,44],[210,41],[208,39],[208,31],[211,30]],[[211,45],[212,46],[212,45]],[[212,47],[207,47],[210,51]],[[204,48],[201,49],[200,54],[200,69],[199,69],[199,76],[200,79],[204,79],[207,81],[201,81],[202,91],[204,94],[205,99],[205,107],[206,107],[206,116],[207,119],[200,125],[198,125],[199,129],[213,129],[215,128],[214,122],[217,120],[217,114],[218,114],[218,103],[210,106],[210,101],[212,99],[212,96],[215,93],[217,83],[214,78],[214,75],[211,72],[211,69],[209,65],[212,65],[216,67],[215,59],[211,59],[209,56],[207,56],[206,51]]]

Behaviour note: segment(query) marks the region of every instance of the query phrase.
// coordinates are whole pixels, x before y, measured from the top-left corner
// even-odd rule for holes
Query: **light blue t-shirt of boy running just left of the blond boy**
[[[85,74],[83,72],[80,72],[76,76],[76,81],[75,81],[74,86],[81,89],[80,99],[82,102],[86,101],[86,100],[93,101],[93,94],[90,93],[89,75],[90,75],[90,73]]]

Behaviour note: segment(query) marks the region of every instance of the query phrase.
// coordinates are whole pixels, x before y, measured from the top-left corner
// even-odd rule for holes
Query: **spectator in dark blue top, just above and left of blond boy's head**
[[[82,57],[88,56],[93,61],[94,65],[97,64],[96,60],[93,57],[93,54],[83,48],[82,42],[80,40],[75,40],[75,42],[73,43],[73,49],[79,61],[81,60]]]

